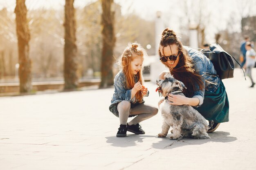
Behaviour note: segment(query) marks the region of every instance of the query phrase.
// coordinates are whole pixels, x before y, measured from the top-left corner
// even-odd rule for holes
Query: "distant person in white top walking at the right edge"
[[[251,42],[246,42],[245,43],[245,49],[247,50],[246,52],[246,62],[245,62],[245,67],[246,67],[246,75],[250,78],[251,82],[252,82],[252,86],[250,87],[254,87],[255,82],[252,79],[252,68],[254,68],[255,66],[255,51],[252,48],[252,44]]]

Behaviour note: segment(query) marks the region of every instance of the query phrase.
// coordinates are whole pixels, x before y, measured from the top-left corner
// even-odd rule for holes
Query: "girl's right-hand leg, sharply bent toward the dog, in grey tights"
[[[128,124],[138,124],[141,121],[144,121],[150,117],[153,117],[158,112],[158,109],[152,106],[148,106],[144,103],[131,108],[130,115],[137,115],[134,119],[132,119]]]

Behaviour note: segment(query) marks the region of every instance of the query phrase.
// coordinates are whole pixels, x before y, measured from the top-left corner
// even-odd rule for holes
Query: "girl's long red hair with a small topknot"
[[[143,65],[141,67],[141,70],[137,73],[137,75],[134,75],[130,68],[130,62],[133,59],[140,57],[144,59],[144,56],[147,56],[145,49],[143,49],[140,44],[135,42],[129,43],[126,49],[124,50],[123,54],[119,58],[119,66],[121,66],[121,69],[123,70],[124,75],[126,77],[125,85],[127,89],[132,89],[135,83],[137,83],[135,82],[135,78],[137,78],[137,81],[139,81],[141,85],[144,84],[144,79],[142,76]],[[141,90],[135,94],[135,98],[139,103],[142,102],[143,97]]]

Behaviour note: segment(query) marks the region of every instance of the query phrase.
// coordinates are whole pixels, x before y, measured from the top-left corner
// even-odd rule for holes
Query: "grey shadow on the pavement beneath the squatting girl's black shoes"
[[[155,137],[155,136],[127,134],[127,137],[110,136],[110,137],[106,137],[106,139],[107,139],[107,143],[111,144],[112,146],[129,147],[129,146],[135,146],[136,143],[143,142],[143,139],[148,137]]]

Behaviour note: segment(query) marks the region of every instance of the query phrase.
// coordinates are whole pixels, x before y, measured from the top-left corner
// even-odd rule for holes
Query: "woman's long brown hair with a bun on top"
[[[176,44],[178,46],[178,51],[180,51],[180,60],[177,66],[172,70],[168,67],[166,62],[162,62],[167,68],[169,68],[173,77],[184,83],[187,89],[184,89],[184,95],[187,97],[193,97],[193,94],[197,90],[202,90],[204,88],[204,83],[202,81],[202,76],[199,75],[193,66],[193,62],[188,55],[188,52],[183,48],[182,43],[177,38],[176,33],[166,28],[162,32],[162,38],[160,40],[160,45],[166,47],[168,45]],[[161,56],[160,46],[158,49],[158,54]],[[195,83],[192,83],[195,82]],[[196,86],[198,85],[198,87]]]

